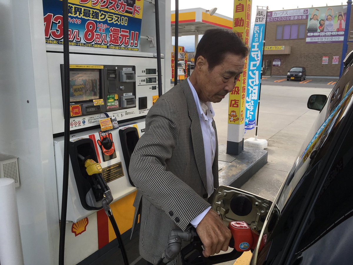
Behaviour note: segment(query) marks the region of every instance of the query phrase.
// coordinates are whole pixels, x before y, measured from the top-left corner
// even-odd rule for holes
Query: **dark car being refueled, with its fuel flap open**
[[[274,202],[217,189],[212,207],[223,222],[244,221],[251,229],[254,242],[240,245],[253,251],[251,265],[352,264],[353,51],[343,62],[330,95],[307,102],[320,113]]]

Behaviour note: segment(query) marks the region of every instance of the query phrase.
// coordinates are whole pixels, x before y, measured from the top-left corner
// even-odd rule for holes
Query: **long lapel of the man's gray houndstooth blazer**
[[[183,88],[184,95],[187,101],[189,117],[191,119],[191,137],[192,147],[195,154],[197,169],[200,173],[202,183],[205,190],[207,190],[207,176],[206,176],[206,162],[205,162],[205,149],[203,145],[203,137],[201,130],[201,123],[197,113],[196,103],[191,88],[187,80],[185,80],[181,87]]]

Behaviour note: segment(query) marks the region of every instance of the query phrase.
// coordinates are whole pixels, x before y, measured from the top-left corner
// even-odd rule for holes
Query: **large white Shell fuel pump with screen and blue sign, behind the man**
[[[7,25],[7,37],[0,40],[6,49],[0,64],[0,115],[7,124],[0,129],[6,135],[0,149],[18,157],[16,197],[24,264],[58,264],[60,231],[65,235],[64,264],[90,264],[112,249],[122,264],[116,228],[102,208],[106,200],[111,200],[122,242],[130,244],[127,256],[138,260],[137,245],[127,240],[136,194],[128,161],[144,133],[145,115],[169,89],[170,2],[159,1],[158,8],[157,1],[69,0],[67,33],[62,2],[10,1],[0,16]],[[160,51],[156,15],[161,20]],[[70,43],[68,94],[64,35]],[[64,155],[67,120],[70,157]],[[61,218],[67,158],[67,209]],[[89,175],[84,160],[99,163],[101,177]]]

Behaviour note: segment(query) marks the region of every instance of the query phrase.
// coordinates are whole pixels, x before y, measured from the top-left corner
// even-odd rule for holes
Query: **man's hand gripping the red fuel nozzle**
[[[210,209],[197,225],[196,232],[200,237],[205,250],[202,254],[207,258],[220,251],[227,251],[231,231],[222,223],[218,214]]]

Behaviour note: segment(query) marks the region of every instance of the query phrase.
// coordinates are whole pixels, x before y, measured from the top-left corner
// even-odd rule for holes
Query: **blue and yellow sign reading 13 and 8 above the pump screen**
[[[138,51],[142,0],[69,0],[71,46]],[[62,1],[43,0],[44,33],[48,44],[63,43]]]

